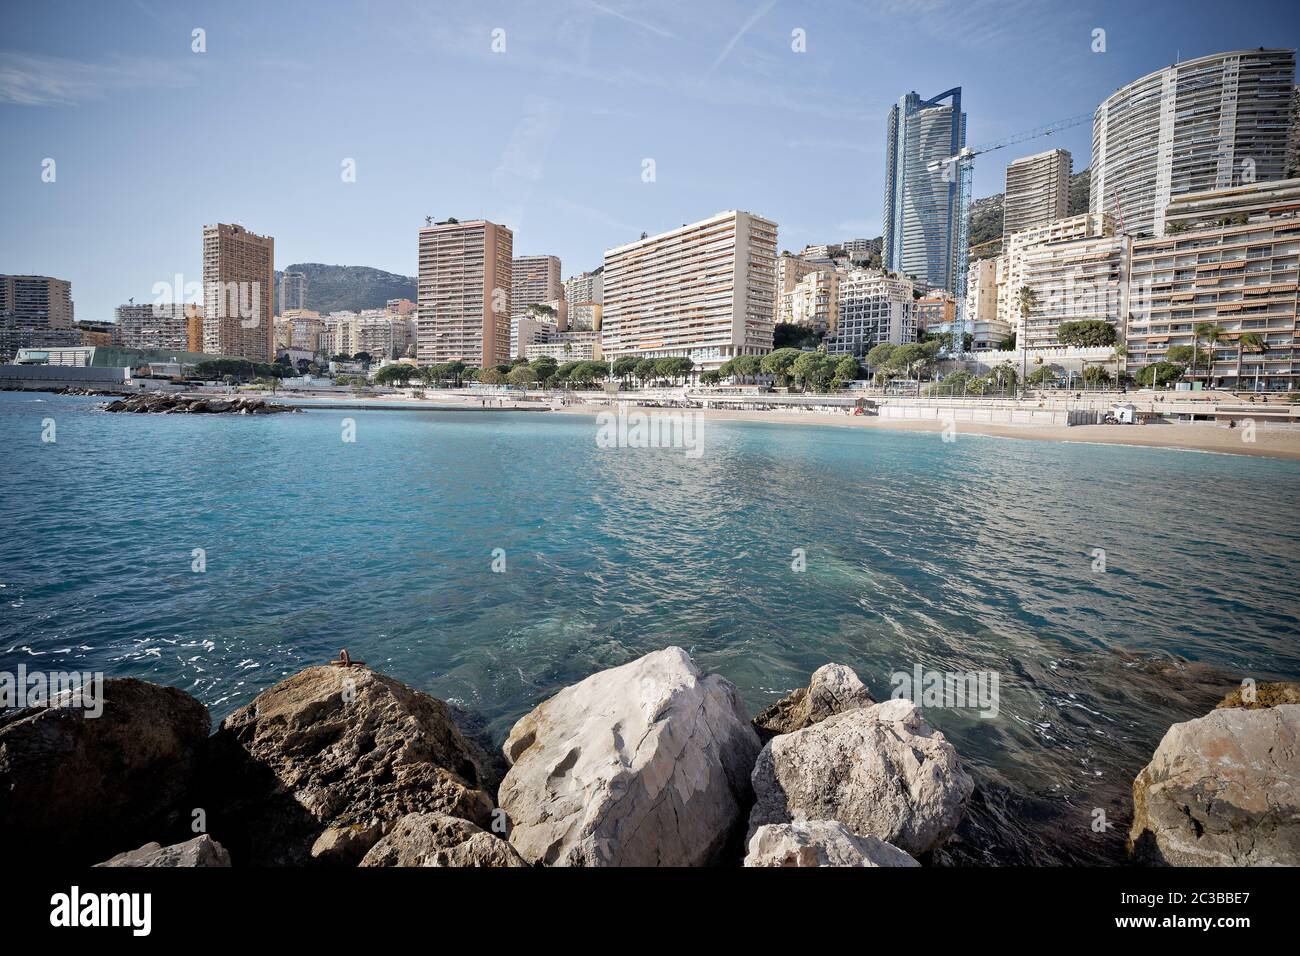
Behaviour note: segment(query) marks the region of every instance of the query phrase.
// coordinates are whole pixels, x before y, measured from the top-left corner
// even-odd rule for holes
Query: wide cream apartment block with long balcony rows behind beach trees
[[[776,224],[719,212],[604,254],[602,354],[712,369],[772,349]]]

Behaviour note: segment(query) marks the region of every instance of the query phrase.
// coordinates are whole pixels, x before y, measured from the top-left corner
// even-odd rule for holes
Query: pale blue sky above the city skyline
[[[564,276],[733,208],[792,251],[871,238],[911,90],[961,86],[979,146],[1178,59],[1297,40],[1277,0],[9,3],[0,273],[70,280],[77,319],[107,320],[202,281],[218,221],[273,235],[277,268],[408,276],[425,216],[503,222]],[[982,156],[975,196],[1057,146],[1087,166],[1091,120]]]

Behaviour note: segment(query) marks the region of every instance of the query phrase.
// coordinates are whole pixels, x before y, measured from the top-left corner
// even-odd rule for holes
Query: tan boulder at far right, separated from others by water
[[[1134,856],[1300,866],[1300,704],[1222,708],[1165,734],[1134,780]]]

